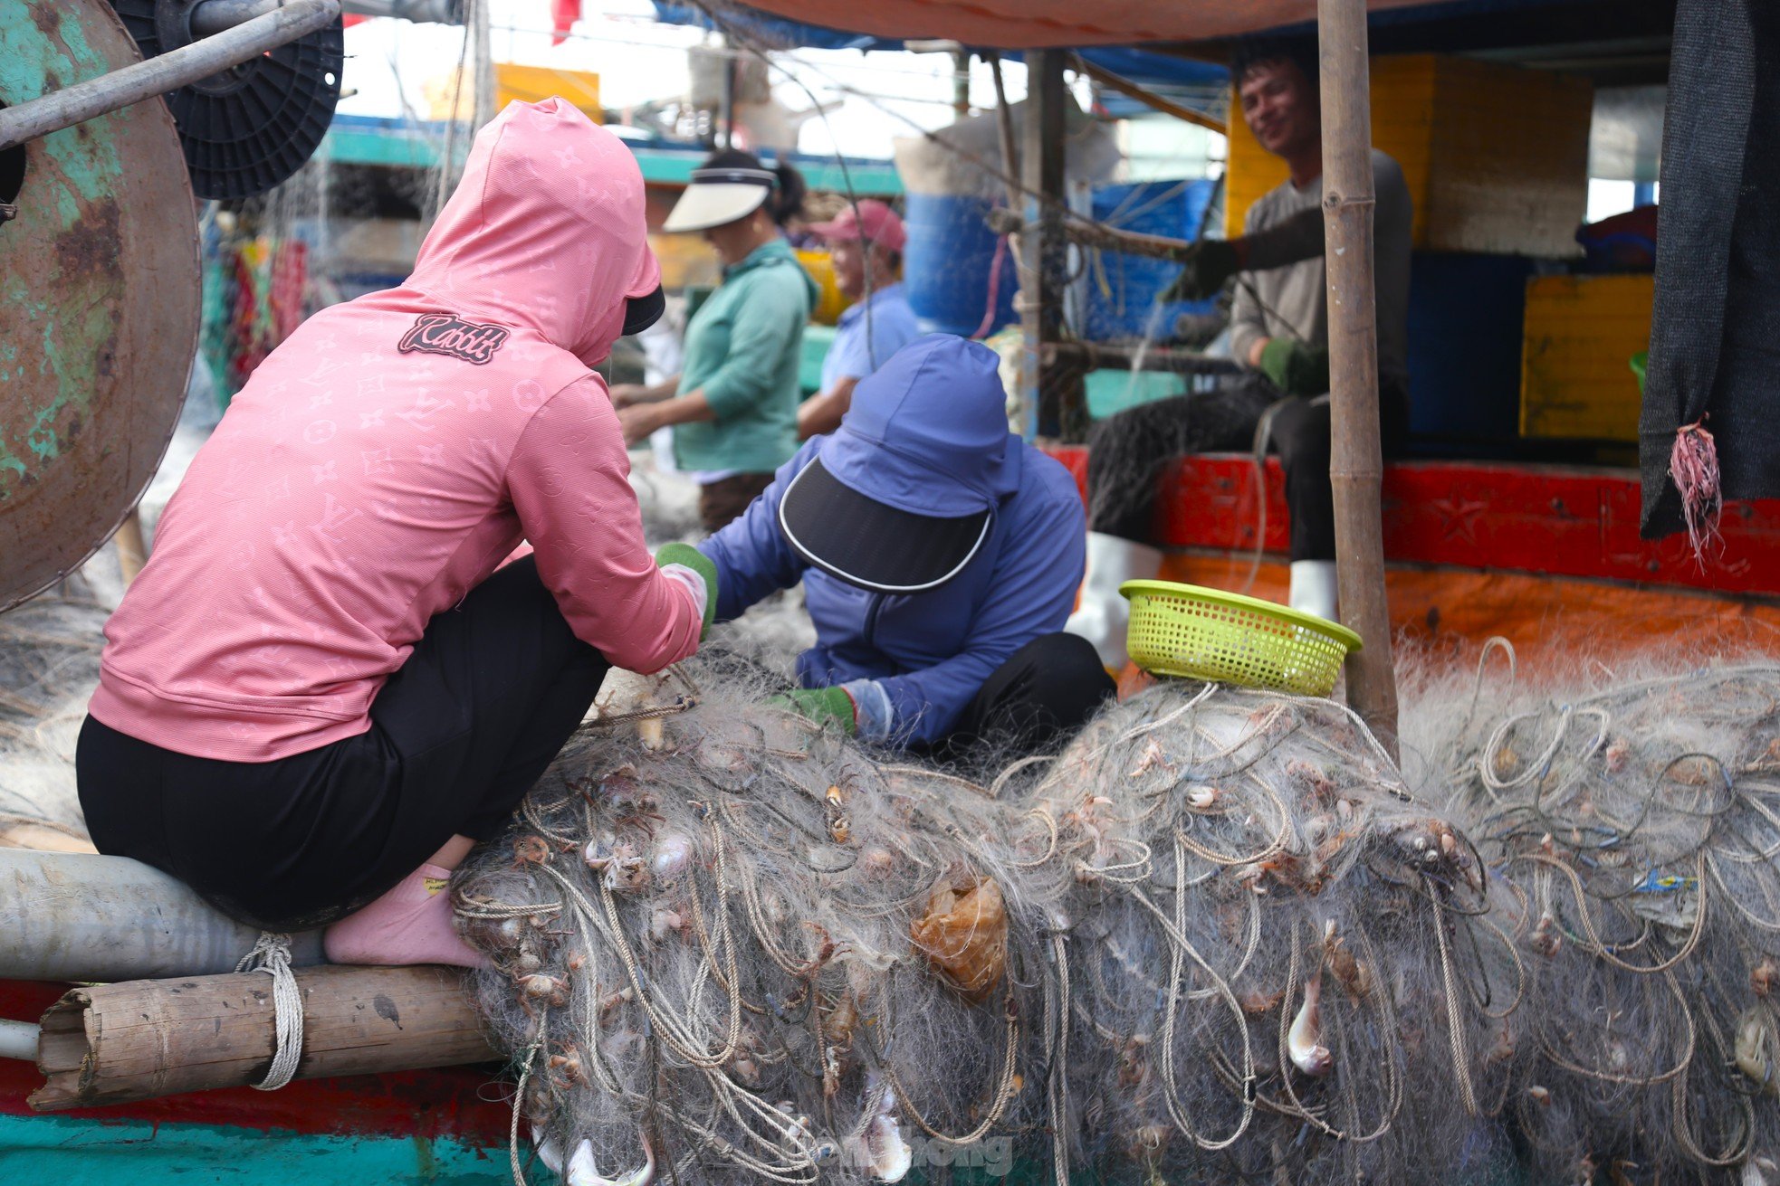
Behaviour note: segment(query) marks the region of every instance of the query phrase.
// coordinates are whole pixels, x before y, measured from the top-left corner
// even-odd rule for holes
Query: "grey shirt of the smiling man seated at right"
[[[1410,231],[1415,206],[1403,169],[1396,160],[1372,149],[1372,187],[1378,206],[1372,213],[1372,267],[1378,292],[1378,375],[1387,382],[1408,381],[1410,315]],[[1303,210],[1323,204],[1323,178],[1305,188],[1290,181],[1262,194],[1242,233],[1253,235],[1278,226]],[[1258,299],[1257,299],[1258,297]],[[1242,365],[1262,338],[1287,334],[1324,347],[1330,340],[1328,279],[1323,256],[1266,272],[1237,274],[1235,304],[1230,309],[1230,352]]]

